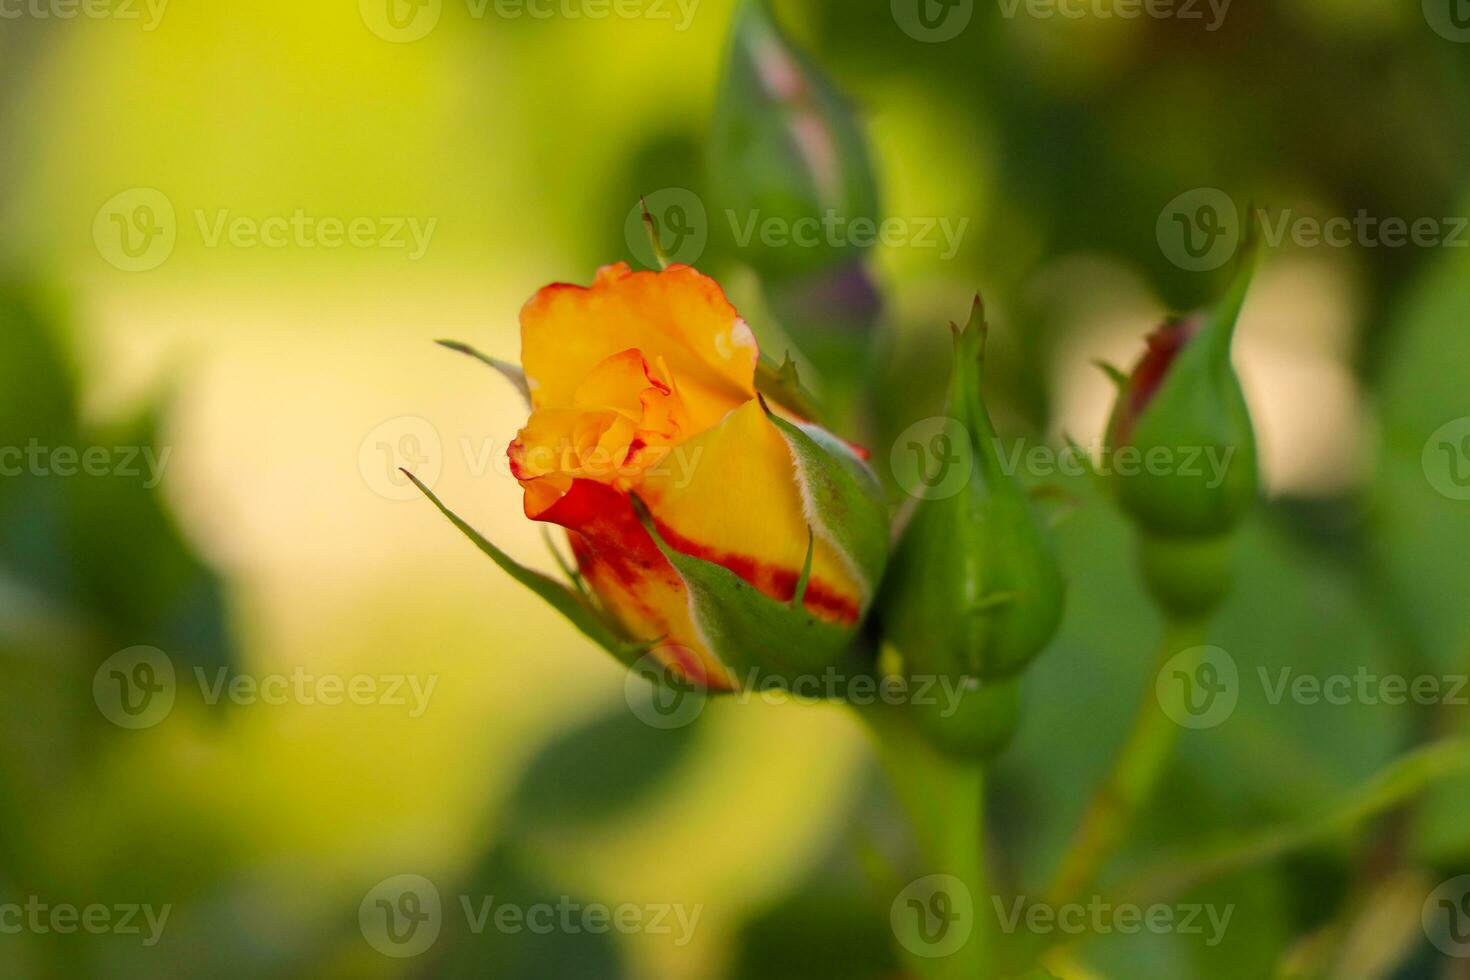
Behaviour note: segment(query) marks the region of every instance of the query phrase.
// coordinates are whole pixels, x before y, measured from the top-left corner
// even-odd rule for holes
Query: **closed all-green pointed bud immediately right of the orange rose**
[[[956,328],[945,422],[964,439],[956,458],[967,472],[914,508],[881,599],[888,641],[910,676],[1013,677],[1061,619],[1061,572],[1025,489],[1001,463],[980,395],[985,331],[976,297],[969,325]],[[956,448],[950,438],[935,444],[935,455]]]

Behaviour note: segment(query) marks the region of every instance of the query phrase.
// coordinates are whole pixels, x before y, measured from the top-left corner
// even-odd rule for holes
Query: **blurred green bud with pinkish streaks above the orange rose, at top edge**
[[[847,101],[785,37],[766,0],[741,0],[735,12],[710,176],[741,256],[767,281],[833,269],[869,244],[851,234],[854,220],[878,217],[867,141]]]

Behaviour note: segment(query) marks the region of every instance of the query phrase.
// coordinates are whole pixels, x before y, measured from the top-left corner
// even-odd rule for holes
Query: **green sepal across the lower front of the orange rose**
[[[694,621],[738,686],[791,682],[841,667],[856,629],[828,623],[803,605],[778,602],[729,569],[670,547],[638,497],[634,513],[689,589]],[[814,539],[808,544],[810,560]]]

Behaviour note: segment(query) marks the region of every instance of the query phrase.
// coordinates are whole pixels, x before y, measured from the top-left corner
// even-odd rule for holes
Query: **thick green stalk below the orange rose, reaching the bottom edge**
[[[922,861],[914,880],[947,874],[958,879],[967,892],[948,896],[948,908],[961,914],[969,909],[970,933],[963,945],[945,956],[920,955],[904,942],[900,949],[920,977],[995,977],[995,934],[985,874],[983,768],[932,748],[901,708],[878,705],[858,711],[858,717],[873,738],[878,760],[908,818]],[[957,927],[961,927],[958,921]]]

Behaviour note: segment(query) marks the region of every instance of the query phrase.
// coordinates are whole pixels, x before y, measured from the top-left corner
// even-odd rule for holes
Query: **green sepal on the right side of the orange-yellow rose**
[[[761,408],[791,448],[803,508],[813,533],[847,558],[854,577],[863,585],[866,605],[888,564],[888,505],[878,478],[826,429],[788,422],[775,414],[764,400]]]

